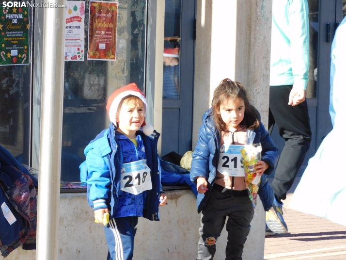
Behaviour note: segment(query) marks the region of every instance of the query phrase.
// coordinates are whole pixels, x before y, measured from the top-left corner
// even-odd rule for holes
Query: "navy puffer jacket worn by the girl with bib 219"
[[[251,131],[255,132],[253,144],[261,143],[262,145],[262,161],[267,162],[269,165],[265,174],[269,175],[274,170],[279,159],[278,149],[275,147],[273,140],[270,138],[262,123],[258,128]],[[220,143],[220,131],[216,128],[212,117],[212,111],[209,109],[203,115],[203,124],[200,128],[196,148],[192,153],[192,165],[190,170],[190,179],[193,183],[197,182],[196,179],[198,177],[204,177],[207,179],[208,183],[210,183],[208,191],[204,194],[198,194],[197,196],[198,212],[204,209],[214,185],[220,154],[217,151],[220,151]]]

